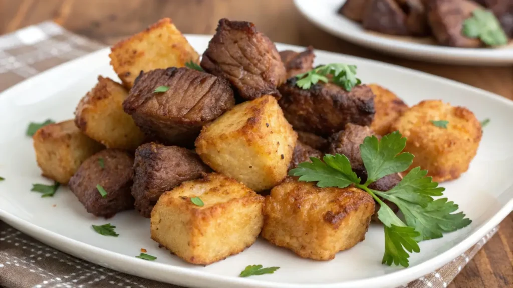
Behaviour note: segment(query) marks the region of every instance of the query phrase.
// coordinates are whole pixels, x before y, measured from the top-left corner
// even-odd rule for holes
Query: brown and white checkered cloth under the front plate
[[[80,57],[102,45],[71,34],[51,22],[0,37],[0,91],[37,73]],[[1,95],[0,95],[1,96]],[[436,272],[402,288],[442,288],[458,275],[482,246],[478,244]],[[0,286],[25,287],[167,287],[178,288],[115,272],[49,248],[0,221]]]

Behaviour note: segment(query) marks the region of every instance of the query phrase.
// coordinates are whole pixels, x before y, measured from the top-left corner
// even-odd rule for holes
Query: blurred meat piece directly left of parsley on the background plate
[[[482,8],[469,0],[431,0],[429,1],[428,20],[433,35],[444,46],[460,48],[478,48],[479,39],[465,37],[462,33],[463,22],[472,16],[472,12]]]

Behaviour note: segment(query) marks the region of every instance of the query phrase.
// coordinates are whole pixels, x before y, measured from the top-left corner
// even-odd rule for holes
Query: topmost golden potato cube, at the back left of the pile
[[[141,71],[180,68],[189,61],[199,64],[200,60],[200,55],[169,18],[117,43],[111,48],[109,57],[110,65],[128,89],[132,88]]]

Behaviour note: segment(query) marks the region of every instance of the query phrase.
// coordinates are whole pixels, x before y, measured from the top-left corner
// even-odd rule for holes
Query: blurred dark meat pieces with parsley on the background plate
[[[503,46],[513,38],[511,0],[347,0],[338,13],[365,30],[431,36],[443,46]]]

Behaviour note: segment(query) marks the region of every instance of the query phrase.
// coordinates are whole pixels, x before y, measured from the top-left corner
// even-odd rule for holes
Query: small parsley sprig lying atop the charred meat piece
[[[331,77],[329,77],[331,75]],[[317,67],[311,71],[295,76],[298,81],[295,83],[303,90],[310,89],[312,85],[319,83],[319,81],[331,83],[343,87],[347,92],[355,86],[362,83],[356,77],[356,66],[345,64],[328,64]]]

